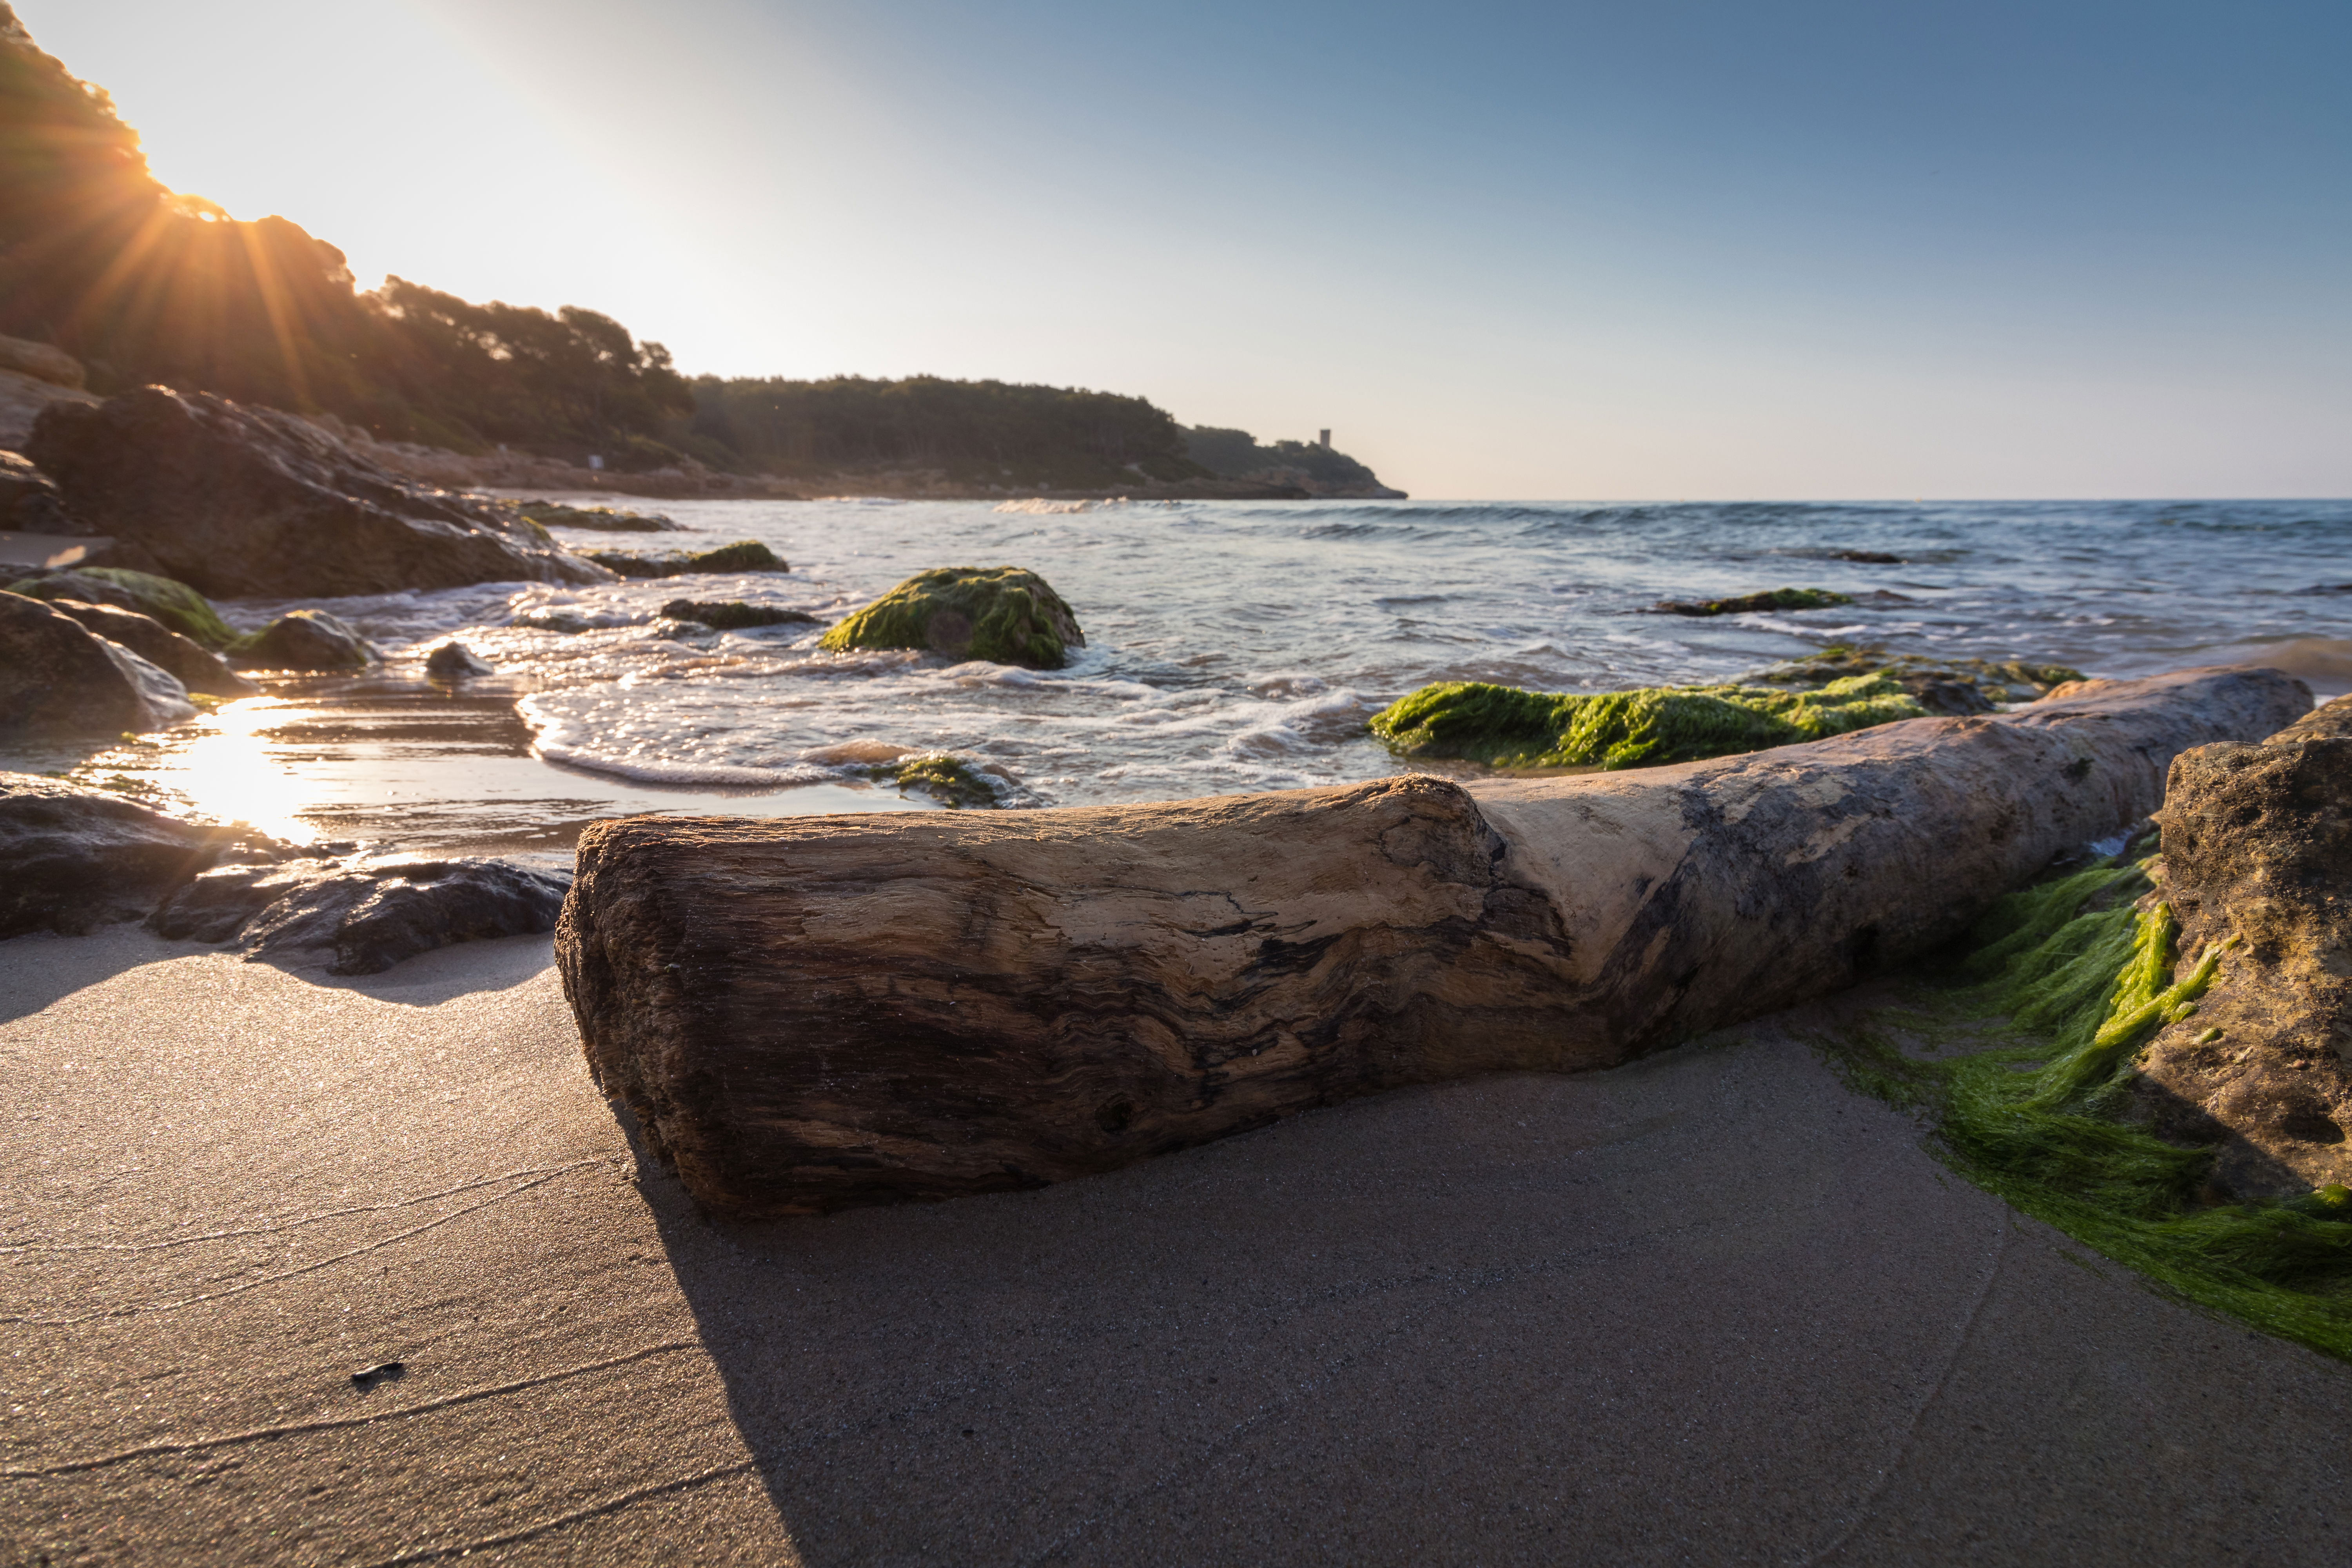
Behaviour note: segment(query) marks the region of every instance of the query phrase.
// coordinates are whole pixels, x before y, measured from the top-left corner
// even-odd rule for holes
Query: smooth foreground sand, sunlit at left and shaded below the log
[[[2345,1554],[2352,1371],[1945,1175],[1785,1018],[755,1229],[640,1171],[546,938],[19,938],[0,1065],[9,1566]]]

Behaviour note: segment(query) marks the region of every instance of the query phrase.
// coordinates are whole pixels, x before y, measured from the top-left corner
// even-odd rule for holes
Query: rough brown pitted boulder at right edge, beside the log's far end
[[[2201,745],[2164,790],[2180,954],[2220,969],[2140,1060],[2157,1131],[2218,1143],[2239,1199],[2352,1185],[2352,698],[2260,745]]]

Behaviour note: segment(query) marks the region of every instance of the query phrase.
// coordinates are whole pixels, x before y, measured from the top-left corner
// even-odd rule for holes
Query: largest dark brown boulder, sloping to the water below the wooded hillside
[[[405,480],[310,421],[151,386],[52,404],[31,456],[111,559],[214,597],[609,583],[503,508]]]

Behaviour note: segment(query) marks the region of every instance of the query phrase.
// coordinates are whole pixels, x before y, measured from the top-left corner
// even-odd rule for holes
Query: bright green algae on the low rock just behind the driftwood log
[[[1877,675],[1818,691],[1773,686],[1644,686],[1524,691],[1442,682],[1388,705],[1371,733],[1406,757],[1461,757],[1508,769],[1642,769],[1820,741],[1926,710]]]

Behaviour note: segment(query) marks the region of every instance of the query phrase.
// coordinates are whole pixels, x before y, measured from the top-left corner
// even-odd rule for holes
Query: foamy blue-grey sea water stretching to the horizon
[[[607,498],[609,501],[609,498]],[[649,508],[654,503],[647,503]],[[793,790],[953,752],[1009,806],[1374,778],[1364,722],[1446,679],[1548,691],[1724,682],[1825,644],[2091,675],[2284,663],[2352,686],[2352,503],[1058,503],[680,501],[788,574],[482,585],[318,602],[402,661],[459,637],[517,679],[536,752],[642,785]],[[1896,555],[1898,564],[1842,559]],[[675,597],[821,621],[929,567],[1028,567],[1077,611],[1063,670],[826,654],[821,625],[699,632]],[[1658,599],[1832,588],[1853,607],[1684,618]],[[233,604],[254,625],[278,604]],[[837,790],[814,790],[840,809]],[[774,806],[769,806],[774,809]]]

